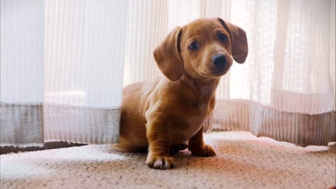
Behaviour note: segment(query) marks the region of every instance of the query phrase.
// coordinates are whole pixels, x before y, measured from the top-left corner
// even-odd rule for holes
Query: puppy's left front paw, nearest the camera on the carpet
[[[172,169],[174,167],[172,157],[147,156],[146,164],[153,169]]]

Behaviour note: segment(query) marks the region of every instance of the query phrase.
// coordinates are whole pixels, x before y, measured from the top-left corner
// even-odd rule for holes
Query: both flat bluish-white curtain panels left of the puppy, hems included
[[[118,141],[127,6],[1,0],[1,145]]]

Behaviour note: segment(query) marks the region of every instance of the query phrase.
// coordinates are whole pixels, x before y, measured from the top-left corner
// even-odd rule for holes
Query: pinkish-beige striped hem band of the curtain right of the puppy
[[[336,111],[289,113],[251,101],[218,100],[209,119],[212,116],[214,125],[207,125],[207,130],[243,130],[298,146],[328,146],[336,141]]]

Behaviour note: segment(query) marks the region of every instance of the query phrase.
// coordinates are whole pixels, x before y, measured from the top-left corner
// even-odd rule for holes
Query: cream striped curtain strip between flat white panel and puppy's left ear
[[[156,67],[153,49],[167,32],[167,2],[130,0],[125,36],[124,86],[162,76]]]

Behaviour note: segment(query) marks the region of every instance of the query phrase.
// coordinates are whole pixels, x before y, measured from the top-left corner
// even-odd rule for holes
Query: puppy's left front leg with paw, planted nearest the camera
[[[148,155],[146,164],[154,169],[171,169],[173,158],[169,157],[170,139],[163,121],[150,121],[146,125],[148,139]]]

